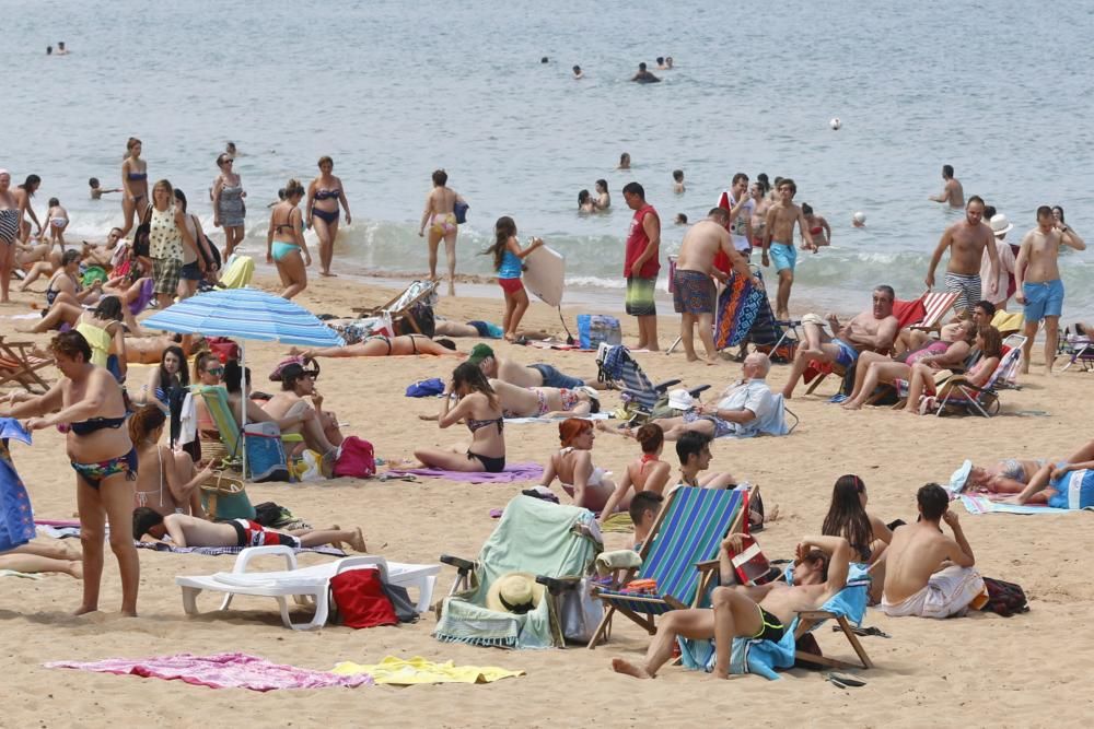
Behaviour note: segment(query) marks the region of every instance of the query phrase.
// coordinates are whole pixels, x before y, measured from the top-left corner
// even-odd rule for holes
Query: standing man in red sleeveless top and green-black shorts
[[[627,278],[627,314],[638,318],[638,349],[656,352],[657,305],[653,293],[657,284],[661,261],[661,219],[645,201],[645,190],[638,183],[622,188],[627,207],[635,211],[627,234],[627,250],[622,274]]]

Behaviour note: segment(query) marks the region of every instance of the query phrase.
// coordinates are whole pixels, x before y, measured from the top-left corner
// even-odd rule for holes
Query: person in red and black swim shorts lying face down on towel
[[[356,529],[298,529],[278,531],[251,519],[206,521],[187,514],[163,516],[147,506],[133,509],[133,539],[144,534],[155,541],[171,537],[175,546],[265,546],[283,544],[300,549],[346,542],[358,552],[365,552],[364,534]]]

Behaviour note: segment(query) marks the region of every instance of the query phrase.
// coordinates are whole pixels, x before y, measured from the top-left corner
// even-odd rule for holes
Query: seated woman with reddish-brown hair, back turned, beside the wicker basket
[[[201,483],[212,474],[210,463],[202,471],[188,454],[160,445],[166,415],[155,405],[144,405],[129,419],[129,439],[143,468],[137,474],[133,508],[147,506],[158,514],[193,514],[206,518],[201,508]]]

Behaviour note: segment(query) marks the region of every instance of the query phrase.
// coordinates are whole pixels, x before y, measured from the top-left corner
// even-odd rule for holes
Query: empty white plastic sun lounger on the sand
[[[284,557],[286,568],[277,572],[247,572],[251,562],[260,556]],[[433,586],[438,573],[441,572],[441,565],[401,564],[387,562],[382,556],[351,556],[311,567],[299,567],[294,550],[291,546],[277,544],[243,550],[235,558],[232,572],[218,572],[207,576],[178,576],[175,577],[175,584],[183,589],[183,609],[187,615],[199,614],[197,596],[202,591],[224,593],[220,610],[228,610],[232,599],[237,595],[266,597],[277,600],[281,608],[281,622],[286,627],[307,631],[326,625],[331,607],[336,607],[330,599],[330,580],[335,575],[351,569],[379,569],[384,583],[398,585],[408,590],[415,589],[418,593],[415,609],[418,612],[426,612],[433,598]],[[314,608],[314,614],[309,622],[292,622],[286,599],[289,597],[298,604],[311,604]]]

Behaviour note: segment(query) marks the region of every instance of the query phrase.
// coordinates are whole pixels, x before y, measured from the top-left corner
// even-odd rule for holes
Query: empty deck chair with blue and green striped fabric
[[[632,577],[652,579],[656,583],[656,592],[595,590],[593,596],[604,601],[606,610],[589,648],[595,648],[602,638],[607,638],[617,611],[653,635],[657,615],[698,607],[717,573],[722,540],[748,524],[748,501],[753,492],[754,489],[724,491],[693,486],[674,490],[650,530],[650,539],[642,545],[642,566],[638,575],[628,575],[624,580]]]

